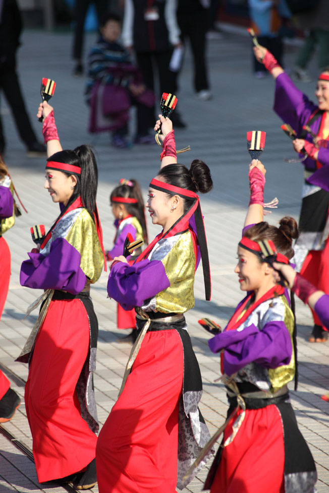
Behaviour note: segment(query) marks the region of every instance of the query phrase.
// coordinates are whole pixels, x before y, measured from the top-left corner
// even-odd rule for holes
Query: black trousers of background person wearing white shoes
[[[194,62],[194,89],[196,92],[209,89],[205,59],[208,11],[201,8],[192,12],[177,11],[177,21],[183,43],[188,38],[191,44]]]

